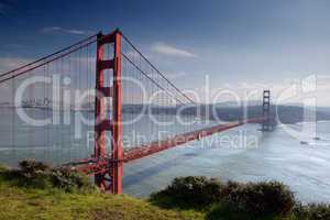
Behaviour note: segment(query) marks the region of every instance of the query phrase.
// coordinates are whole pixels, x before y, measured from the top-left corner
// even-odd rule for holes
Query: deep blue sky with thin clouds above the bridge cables
[[[0,70],[118,26],[182,88],[202,89],[209,75],[212,90],[280,91],[330,76],[329,9],[327,0],[0,0]]]

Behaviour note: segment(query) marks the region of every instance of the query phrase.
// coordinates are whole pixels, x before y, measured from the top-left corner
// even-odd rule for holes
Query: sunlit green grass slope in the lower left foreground
[[[194,210],[166,210],[145,200],[129,196],[106,195],[63,189],[25,187],[13,178],[8,180],[6,169],[0,168],[0,219],[41,220],[172,220],[204,219]]]

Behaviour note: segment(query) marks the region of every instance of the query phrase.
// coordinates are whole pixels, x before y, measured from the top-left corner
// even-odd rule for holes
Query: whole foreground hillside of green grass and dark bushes
[[[176,178],[148,200],[100,193],[86,176],[37,162],[0,167],[0,220],[329,220],[329,205],[301,206],[280,183]]]

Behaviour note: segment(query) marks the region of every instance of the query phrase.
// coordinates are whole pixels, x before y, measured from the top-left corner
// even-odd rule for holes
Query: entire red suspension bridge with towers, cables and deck
[[[262,123],[264,131],[272,129],[268,90],[264,91],[260,117],[196,124],[199,103],[176,87],[119,30],[95,34],[3,73],[1,87],[6,91],[1,95],[1,102],[6,103],[1,107],[2,117],[7,120],[7,125],[1,125],[2,145],[12,151],[23,146],[31,151],[42,148],[51,154],[43,156],[44,161],[58,154],[59,165],[94,175],[97,186],[113,194],[121,194],[124,163],[245,123]],[[26,106],[29,100],[47,100],[47,105]],[[14,110],[21,112],[20,118]],[[6,112],[11,113],[7,117]],[[81,131],[87,131],[86,124],[94,130],[92,150],[80,151],[79,142],[75,143],[78,151],[69,151],[77,131],[58,124],[72,123],[76,114],[84,119],[78,121],[84,121]],[[144,120],[146,114],[153,120]],[[180,125],[168,125],[169,118],[177,114],[183,118]],[[142,130],[148,139],[123,144],[124,136]],[[162,130],[166,135],[153,135]],[[28,156],[23,154],[21,158]]]

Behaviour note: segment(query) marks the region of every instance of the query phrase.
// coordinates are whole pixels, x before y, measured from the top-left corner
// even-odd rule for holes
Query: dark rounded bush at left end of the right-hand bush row
[[[152,195],[152,200],[160,201],[164,198],[175,200],[176,205],[208,206],[220,199],[222,185],[216,179],[201,176],[175,178],[164,190]]]

